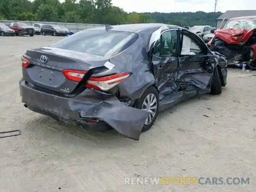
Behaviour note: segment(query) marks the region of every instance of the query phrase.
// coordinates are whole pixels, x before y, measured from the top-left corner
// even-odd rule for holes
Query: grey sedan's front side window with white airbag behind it
[[[200,46],[189,36],[183,36],[181,55],[195,55],[202,53]]]

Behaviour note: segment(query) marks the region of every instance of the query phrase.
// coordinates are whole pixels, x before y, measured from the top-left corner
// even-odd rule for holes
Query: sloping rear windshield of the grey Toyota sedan
[[[84,30],[64,38],[51,47],[110,56],[127,48],[137,38],[138,35],[131,32]]]

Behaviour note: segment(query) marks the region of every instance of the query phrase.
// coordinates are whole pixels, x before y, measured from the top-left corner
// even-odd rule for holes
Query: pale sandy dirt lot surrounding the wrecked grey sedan
[[[20,55],[61,38],[0,38],[0,130],[22,131],[0,139],[0,192],[256,191],[255,72],[230,69],[222,95],[204,95],[161,113],[136,142],[114,131],[61,126],[24,108]],[[124,185],[124,177],[138,175],[249,177],[250,184]]]

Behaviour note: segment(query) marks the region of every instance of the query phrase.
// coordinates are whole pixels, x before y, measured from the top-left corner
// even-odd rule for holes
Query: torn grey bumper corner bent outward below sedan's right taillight
[[[81,118],[99,118],[122,136],[139,140],[144,122],[149,112],[126,106],[116,96],[87,90],[81,100],[69,100],[68,106],[80,114]]]

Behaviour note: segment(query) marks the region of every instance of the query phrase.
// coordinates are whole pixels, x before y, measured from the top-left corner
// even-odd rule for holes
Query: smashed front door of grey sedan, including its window
[[[185,89],[189,85],[209,88],[216,65],[215,57],[196,34],[181,30],[181,40],[177,85]]]

